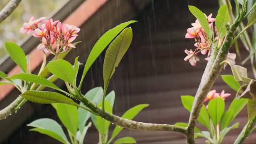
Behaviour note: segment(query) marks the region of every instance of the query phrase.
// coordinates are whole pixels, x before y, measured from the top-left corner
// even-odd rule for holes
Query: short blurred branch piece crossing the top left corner
[[[17,8],[21,0],[10,0],[8,4],[0,11],[0,23]]]

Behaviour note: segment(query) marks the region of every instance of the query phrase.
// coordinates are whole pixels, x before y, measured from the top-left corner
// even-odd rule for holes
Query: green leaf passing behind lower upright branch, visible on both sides
[[[191,112],[194,97],[193,96],[181,96],[183,107],[186,108],[189,112]],[[202,106],[199,117],[197,120],[205,127],[210,127],[210,119],[208,112],[205,108],[205,106]]]

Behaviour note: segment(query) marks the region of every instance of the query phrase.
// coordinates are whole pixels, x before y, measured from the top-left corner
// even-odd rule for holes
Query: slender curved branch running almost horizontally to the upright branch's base
[[[173,126],[173,125],[166,125],[166,124],[151,124],[151,123],[143,123],[143,122],[136,122],[133,120],[129,120],[126,118],[122,118],[113,114],[110,114],[108,112],[102,111],[100,107],[93,104],[88,99],[84,98],[80,94],[80,100],[82,103],[90,108],[93,112],[99,114],[102,118],[110,121],[111,123],[122,126],[128,129],[134,129],[134,130],[145,130],[145,131],[174,131],[174,132],[180,132],[185,134],[186,129],[180,126]]]

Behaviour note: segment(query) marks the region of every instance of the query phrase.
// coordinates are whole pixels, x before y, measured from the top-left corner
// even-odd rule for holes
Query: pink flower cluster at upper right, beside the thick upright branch
[[[215,22],[215,18],[211,18],[212,14],[210,14],[209,16],[205,15],[205,17],[207,18],[209,27],[212,30],[213,24]],[[200,61],[200,58],[197,56],[198,53],[205,55],[208,52],[205,60],[207,60],[207,61],[209,60],[210,53],[211,53],[211,45],[212,45],[211,43],[218,42],[219,37],[218,37],[218,32],[215,27],[216,35],[215,35],[214,41],[211,42],[209,40],[209,37],[205,33],[204,29],[202,28],[198,19],[196,19],[195,23],[192,23],[191,25],[193,27],[190,27],[187,29],[185,38],[194,38],[194,40],[195,40],[194,46],[196,47],[196,49],[194,51],[192,49],[190,49],[190,50],[185,49],[185,53],[187,54],[187,56],[184,58],[184,61],[189,61],[192,66],[195,66],[196,63],[198,61]],[[223,40],[224,40],[224,37],[220,39],[221,42],[219,44],[222,44]],[[236,54],[229,53],[227,60],[230,63],[235,64],[235,58],[236,58]],[[224,65],[224,67],[225,67],[225,65]]]

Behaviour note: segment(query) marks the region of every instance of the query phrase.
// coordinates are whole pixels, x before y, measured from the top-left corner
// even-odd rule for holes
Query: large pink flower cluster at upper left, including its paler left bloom
[[[62,24],[59,20],[34,17],[30,18],[28,23],[24,23],[20,28],[21,33],[31,34],[40,38],[41,44],[37,46],[38,50],[44,50],[46,53],[60,54],[67,52],[70,47],[75,48],[74,39],[78,36],[80,28],[73,25]],[[42,23],[40,27],[38,24]]]

